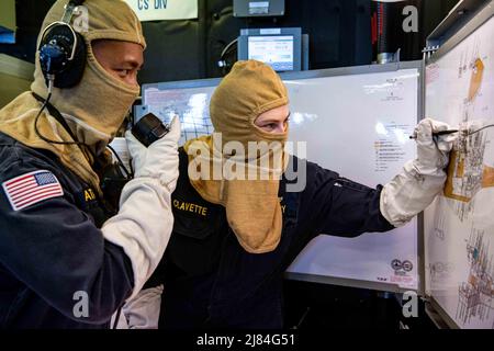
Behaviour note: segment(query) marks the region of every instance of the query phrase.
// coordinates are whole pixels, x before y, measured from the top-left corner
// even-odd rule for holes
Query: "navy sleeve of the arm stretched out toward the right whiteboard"
[[[315,224],[315,235],[357,237],[394,228],[380,211],[381,185],[372,189],[307,162],[307,189],[308,197],[304,197],[312,208],[307,216]]]

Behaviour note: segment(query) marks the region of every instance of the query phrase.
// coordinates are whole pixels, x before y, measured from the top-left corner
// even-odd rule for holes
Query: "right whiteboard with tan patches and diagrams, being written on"
[[[491,16],[492,16],[491,11]],[[426,67],[426,114],[494,124],[494,19]],[[461,135],[442,196],[425,212],[426,293],[453,325],[494,329],[494,129]]]

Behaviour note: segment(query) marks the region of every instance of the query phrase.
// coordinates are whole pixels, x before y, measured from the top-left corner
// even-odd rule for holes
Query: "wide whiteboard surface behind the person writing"
[[[422,63],[282,75],[290,97],[290,140],[341,177],[374,188],[415,157],[408,136],[419,110]],[[182,122],[181,143],[209,134],[209,102],[220,80],[146,84],[145,112]],[[295,145],[294,154],[299,154]],[[297,155],[304,156],[304,155]],[[287,271],[290,279],[383,291],[417,290],[417,220],[386,234],[319,236]]]

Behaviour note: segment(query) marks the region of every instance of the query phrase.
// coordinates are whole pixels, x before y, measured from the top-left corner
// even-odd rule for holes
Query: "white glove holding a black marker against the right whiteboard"
[[[393,226],[405,225],[442,190],[449,151],[458,134],[433,137],[433,133],[447,129],[446,123],[430,118],[415,127],[417,158],[405,163],[402,173],[385,184],[381,193],[381,213]]]

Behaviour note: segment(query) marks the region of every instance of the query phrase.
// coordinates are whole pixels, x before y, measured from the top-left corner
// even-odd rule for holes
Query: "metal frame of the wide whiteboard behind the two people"
[[[405,61],[405,63],[393,63],[385,65],[368,65],[368,66],[353,66],[353,67],[341,67],[341,68],[330,68],[321,70],[308,70],[308,71],[293,71],[293,72],[282,72],[280,77],[283,80],[303,80],[311,78],[323,78],[323,77],[337,77],[337,76],[355,76],[364,73],[379,73],[379,72],[392,72],[401,69],[417,69],[418,76],[418,89],[417,89],[417,116],[424,114],[424,103],[423,103],[423,71],[424,66],[422,60],[416,61]],[[199,80],[183,80],[183,81],[170,81],[161,83],[149,83],[143,84],[143,106],[147,103],[145,101],[145,91],[148,88],[157,88],[159,90],[168,89],[188,89],[188,88],[205,88],[215,87],[220,83],[221,79],[199,79]],[[418,121],[417,121],[418,122]],[[423,276],[425,276],[425,263],[424,263],[424,242],[423,242],[423,226],[420,225],[420,216],[417,218],[417,262],[418,262],[418,293],[423,294],[424,283]],[[396,284],[390,283],[379,283],[363,280],[355,280],[347,278],[335,278],[328,275],[316,275],[308,273],[292,273],[285,272],[285,278],[289,280],[323,283],[339,286],[349,286],[357,288],[368,288],[374,291],[384,292],[395,292],[403,293],[404,291],[409,291],[409,288],[402,288]]]

